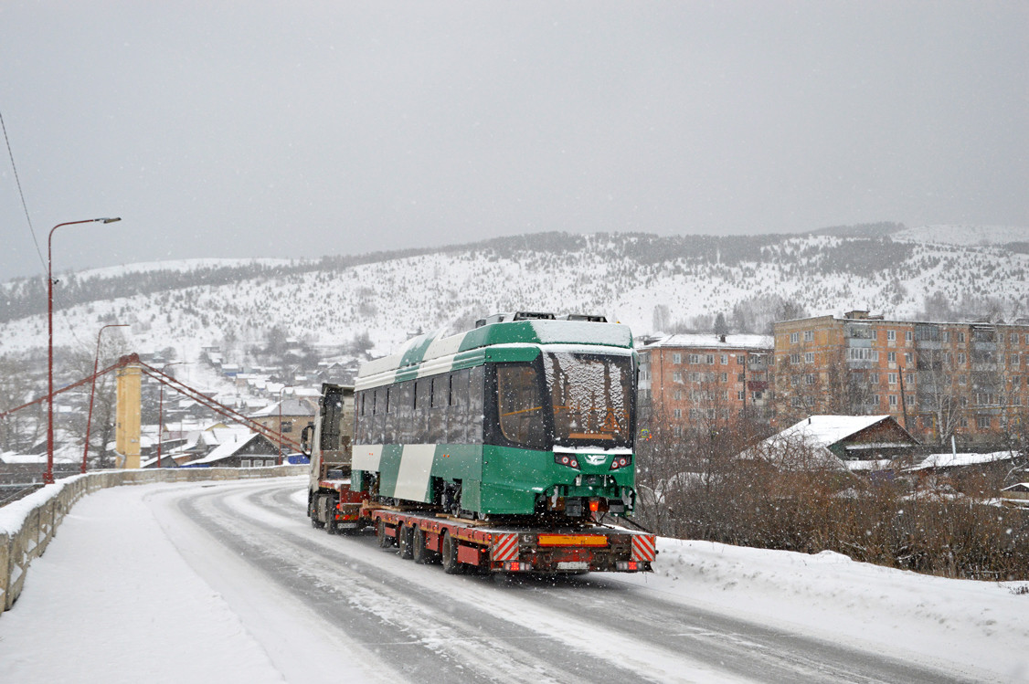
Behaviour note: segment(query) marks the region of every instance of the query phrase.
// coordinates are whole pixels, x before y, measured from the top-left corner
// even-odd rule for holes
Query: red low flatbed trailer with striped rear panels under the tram
[[[658,553],[654,535],[605,525],[490,524],[370,501],[359,517],[375,525],[380,546],[416,563],[440,562],[448,574],[649,572]]]

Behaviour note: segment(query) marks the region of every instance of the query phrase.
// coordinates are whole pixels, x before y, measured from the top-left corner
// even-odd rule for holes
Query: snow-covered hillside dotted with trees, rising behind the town
[[[132,324],[130,344],[140,352],[172,346],[178,358],[194,359],[204,345],[243,349],[281,325],[325,347],[367,332],[374,353],[384,354],[418,329],[464,328],[509,310],[602,314],[639,335],[719,312],[732,320],[741,301],[775,297],[812,315],[868,309],[910,317],[937,292],[952,303],[992,297],[1008,318],[1026,314],[1029,254],[914,240],[930,228],[874,239],[546,233],[352,265],[282,262],[290,266],[279,275],[264,263],[256,276],[234,271],[244,276],[204,285],[190,285],[190,264],[177,262],[170,269],[179,273],[145,274],[151,290],[153,278],[169,279],[166,289],[138,294],[139,281],[127,274],[152,272],[153,264],[111,275],[98,269],[88,280],[123,295],[63,307],[57,344],[72,345],[71,330],[92,339],[100,325],[116,321]],[[948,240],[956,235],[948,232]],[[197,264],[210,273],[241,262]],[[42,348],[45,334],[43,315],[8,320],[0,324],[0,353]]]

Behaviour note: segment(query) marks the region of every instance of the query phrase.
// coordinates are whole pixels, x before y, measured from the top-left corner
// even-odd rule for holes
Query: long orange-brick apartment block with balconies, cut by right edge
[[[780,424],[889,413],[923,440],[996,438],[1029,402],[1029,324],[889,321],[853,311],[775,324]]]

